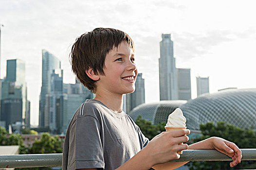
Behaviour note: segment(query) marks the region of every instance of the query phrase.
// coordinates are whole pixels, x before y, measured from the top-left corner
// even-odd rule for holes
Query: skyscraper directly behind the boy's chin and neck
[[[125,112],[128,114],[134,107],[145,103],[145,81],[142,73],[138,73],[135,82],[135,91],[125,95]]]

